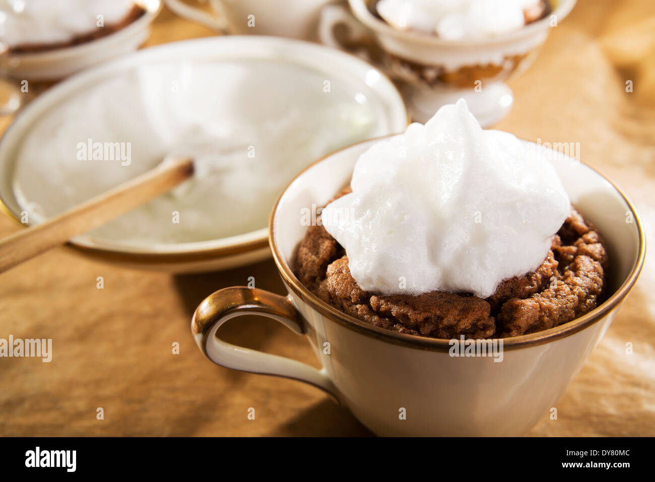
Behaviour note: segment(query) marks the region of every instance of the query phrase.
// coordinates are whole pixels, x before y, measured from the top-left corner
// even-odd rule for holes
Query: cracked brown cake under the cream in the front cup
[[[487,299],[442,291],[421,295],[364,291],[350,274],[345,250],[322,225],[309,227],[294,267],[312,293],[368,324],[424,337],[482,339],[542,331],[593,310],[603,297],[607,251],[595,227],[571,208],[542,265],[504,280]]]

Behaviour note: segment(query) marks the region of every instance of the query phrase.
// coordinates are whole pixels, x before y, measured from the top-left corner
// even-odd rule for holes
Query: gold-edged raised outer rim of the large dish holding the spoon
[[[30,133],[38,128],[39,122],[52,115],[58,106],[69,105],[75,102],[78,96],[97,87],[106,79],[126,75],[143,65],[176,65],[179,62],[186,65],[244,62],[244,65],[249,65],[249,62],[253,64],[253,60],[293,62],[312,72],[318,71],[321,76],[325,76],[320,77],[321,79],[332,79],[333,83],[354,86],[356,92],[362,92],[358,95],[364,96],[365,102],[369,103],[375,112],[375,128],[371,129],[370,136],[367,137],[401,132],[407,126],[407,111],[394,84],[377,69],[349,54],[302,41],[260,36],[215,37],[169,43],[140,50],[74,75],[45,92],[21,111],[0,141],[0,200],[3,204],[0,207],[14,219],[19,219],[20,213],[25,210],[25,206],[20,204],[20,197],[14,191],[13,179],[15,171],[18,170],[16,159],[25,139],[29,138]],[[253,75],[256,77],[258,74],[254,71]],[[264,82],[265,79],[261,81]],[[289,79],[289,82],[293,83],[293,79]],[[321,92],[322,85],[317,87],[318,92]],[[226,94],[226,97],[228,95]],[[363,98],[358,96],[352,98],[352,102],[361,103],[362,100]],[[111,102],[115,103],[115,108],[120,111],[121,102],[125,101],[117,95]],[[217,108],[219,107],[220,105],[217,105]],[[308,115],[311,115],[309,111],[310,109]],[[93,116],[94,111],[90,111],[88,115]],[[280,117],[283,115],[284,112],[280,112]],[[134,120],[151,121],[152,119]],[[147,142],[142,144],[147,145]],[[327,154],[329,153],[323,153]],[[308,159],[307,164],[314,160],[316,158]],[[43,162],[48,160],[44,159]],[[38,169],[38,166],[33,169]],[[48,189],[47,184],[43,183],[43,189]],[[220,219],[216,219],[216,222],[219,223]],[[262,223],[261,229],[252,232],[201,242],[153,243],[143,246],[117,239],[84,235],[71,240],[71,244],[87,255],[112,263],[169,272],[201,272],[229,269],[269,257],[265,224],[266,221]]]

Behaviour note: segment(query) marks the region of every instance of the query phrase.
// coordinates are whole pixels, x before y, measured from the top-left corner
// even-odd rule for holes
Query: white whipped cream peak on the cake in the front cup
[[[359,286],[383,294],[489,297],[543,263],[571,208],[543,148],[483,130],[461,99],[373,143],[350,187],[324,226]]]

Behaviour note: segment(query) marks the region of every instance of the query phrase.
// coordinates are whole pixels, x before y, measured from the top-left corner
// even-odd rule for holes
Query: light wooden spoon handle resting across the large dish
[[[193,159],[174,158],[44,223],[0,241],[0,272],[140,206],[193,176]]]

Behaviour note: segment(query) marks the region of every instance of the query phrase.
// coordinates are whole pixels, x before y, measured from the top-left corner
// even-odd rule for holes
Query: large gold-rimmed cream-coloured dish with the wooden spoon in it
[[[291,77],[284,77],[288,75],[285,65],[290,66]],[[226,79],[221,79],[221,72]],[[240,75],[238,82],[233,80],[236,73]],[[140,81],[130,84],[129,79],[133,77]],[[121,90],[121,86],[135,88]],[[345,93],[342,98],[337,97],[339,92]],[[188,107],[176,110],[178,104],[188,104]],[[307,105],[316,107],[308,109]],[[321,109],[326,109],[326,105],[336,105],[340,110],[329,111],[331,117],[324,119]],[[220,116],[212,117],[214,112]],[[298,117],[301,114],[303,117]],[[215,125],[207,126],[206,119],[214,119]],[[285,125],[288,119],[295,124]],[[371,124],[363,128],[362,122],[366,119]],[[222,147],[229,141],[231,145],[227,145],[227,150],[240,152],[242,145],[249,149],[257,146],[248,145],[250,138],[234,126],[251,122],[259,128],[257,122],[264,121],[266,132],[287,135],[284,142],[278,139],[277,144],[269,143],[271,151],[286,149],[285,152],[293,153],[303,148],[303,143],[312,143],[307,158],[295,161],[302,162],[304,167],[345,145],[401,132],[407,126],[407,111],[398,90],[377,69],[354,56],[320,45],[275,37],[233,36],[147,48],[70,77],[20,112],[0,141],[0,200],[14,219],[28,212],[29,221],[38,223],[39,217],[51,217],[70,204],[80,202],[82,199],[75,198],[79,193],[86,198],[98,194],[102,191],[101,181],[111,179],[107,182],[117,185],[126,180],[126,176],[153,167],[170,153],[168,146],[164,145],[164,149],[162,143],[185,129],[187,124],[192,126],[188,133],[184,131],[189,142],[193,143],[199,130],[208,128],[224,134]],[[348,126],[354,123],[354,126],[345,128],[344,123]],[[332,139],[333,142],[320,142],[321,135],[331,132],[345,132],[348,136]],[[132,160],[122,164],[130,164],[133,170],[128,171],[130,167],[122,167],[118,161],[75,158],[76,147],[81,145],[86,149],[94,143],[93,139],[116,143],[130,141]],[[205,145],[203,149],[208,147],[217,146]],[[178,146],[178,149],[184,147]],[[265,151],[261,154],[261,162],[267,162]],[[244,150],[238,162],[248,162],[245,153]],[[230,159],[227,162],[229,165]],[[266,171],[265,165],[252,166],[253,179],[258,179],[260,171],[270,172],[267,176],[275,174],[275,170]],[[291,161],[289,169],[289,179],[300,170]],[[232,185],[226,186],[231,192],[243,191],[255,197],[261,194],[252,187],[253,183],[241,186],[238,180],[244,177],[234,179]],[[246,265],[270,256],[268,213],[289,179],[284,179],[278,191],[269,189],[271,202],[262,204],[261,223],[257,221],[259,224],[253,229],[198,240],[160,240],[148,237],[151,230],[143,227],[147,218],[141,216],[133,218],[132,225],[116,225],[121,227],[119,234],[106,229],[94,231],[74,238],[71,244],[86,255],[143,269],[202,272]],[[183,199],[184,189],[177,195]],[[221,191],[216,189],[216,196],[220,195]],[[166,202],[177,206],[178,201],[167,198]],[[210,202],[215,200],[209,199],[209,206]],[[40,209],[33,208],[32,204]],[[202,202],[203,208],[206,204]],[[216,215],[210,223],[199,223],[198,231],[205,230],[208,225],[207,229],[234,225],[233,218],[238,217],[239,206],[234,206],[233,211],[231,206],[215,206]],[[168,207],[152,208],[152,212],[169,216]],[[188,209],[180,211],[183,221],[192,219]],[[247,224],[252,219],[243,221]],[[167,222],[171,222],[170,218]],[[108,226],[109,223],[102,228]],[[159,227],[160,224],[153,225],[153,229]],[[194,234],[194,229],[188,229],[187,235]],[[180,235],[174,232],[174,236]]]

